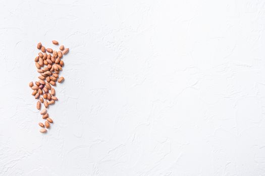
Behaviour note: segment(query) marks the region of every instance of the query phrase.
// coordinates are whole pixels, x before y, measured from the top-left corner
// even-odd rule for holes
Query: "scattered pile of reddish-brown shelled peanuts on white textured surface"
[[[52,40],[52,43],[59,45],[58,41]],[[55,104],[55,101],[58,100],[55,97],[55,89],[52,86],[56,86],[56,82],[59,83],[64,81],[64,77],[59,77],[60,71],[64,66],[64,61],[61,60],[63,55],[69,52],[69,48],[65,48],[64,45],[60,46],[61,51],[52,50],[51,48],[45,48],[41,43],[37,44],[37,49],[41,50],[38,53],[38,56],[35,58],[35,65],[37,71],[40,73],[38,76],[39,80],[34,83],[31,81],[29,86],[33,90],[32,96],[35,96],[35,99],[38,99],[37,109],[41,110],[41,104],[44,104],[44,109],[40,111],[42,119],[45,120],[44,124],[39,122],[41,133],[46,133],[47,129],[50,128],[50,123],[54,121],[49,117],[47,113],[47,108],[49,105]],[[47,54],[51,53],[51,54]]]

